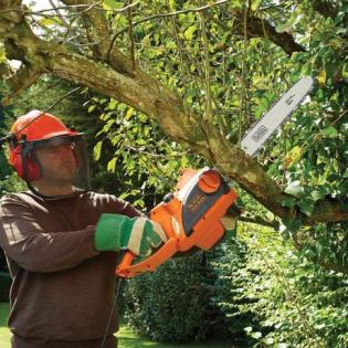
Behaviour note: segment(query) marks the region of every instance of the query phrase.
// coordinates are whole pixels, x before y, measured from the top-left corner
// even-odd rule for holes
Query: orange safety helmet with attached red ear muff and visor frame
[[[32,110],[14,122],[11,134],[9,162],[17,173],[27,181],[32,191],[38,193],[31,181],[35,181],[42,176],[42,167],[34,150],[40,147],[62,144],[75,145],[73,151],[80,168],[76,180],[84,180],[85,184],[83,186],[87,188],[89,168],[82,133],[67,128],[61,119],[49,113]],[[81,186],[75,183],[75,187],[80,188]]]

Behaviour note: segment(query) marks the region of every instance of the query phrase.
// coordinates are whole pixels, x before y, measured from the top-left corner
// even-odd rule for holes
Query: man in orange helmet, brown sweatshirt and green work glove
[[[83,134],[39,110],[11,131],[10,164],[30,188],[0,203],[0,246],[13,278],[12,347],[101,347],[117,252],[148,255],[166,235],[129,203],[87,190]],[[115,313],[105,347],[117,347],[117,328]]]

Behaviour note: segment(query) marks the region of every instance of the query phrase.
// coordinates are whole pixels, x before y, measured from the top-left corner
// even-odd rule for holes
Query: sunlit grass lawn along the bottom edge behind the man
[[[9,305],[6,303],[0,303],[0,347],[10,348],[10,331],[7,327],[7,316],[9,313]],[[158,344],[150,341],[146,338],[139,337],[134,334],[134,331],[123,325],[117,334],[119,348],[229,348],[231,344],[223,344],[217,341],[210,341],[205,344],[187,344],[187,345],[172,345],[172,344]]]

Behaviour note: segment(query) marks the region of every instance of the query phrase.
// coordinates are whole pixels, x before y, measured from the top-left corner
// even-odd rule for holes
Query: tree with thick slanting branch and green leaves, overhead
[[[250,194],[250,211],[271,212],[271,221],[253,221],[281,218],[296,245],[309,241],[314,256],[347,271],[345,1],[49,3],[1,1],[8,104],[44,74],[88,87],[107,97],[91,105],[101,108],[103,141],[116,146],[141,119],[144,135],[158,125],[165,144],[137,143],[137,128],[128,148],[203,157]],[[239,146],[243,134],[302,75],[317,81],[310,97],[251,158]]]

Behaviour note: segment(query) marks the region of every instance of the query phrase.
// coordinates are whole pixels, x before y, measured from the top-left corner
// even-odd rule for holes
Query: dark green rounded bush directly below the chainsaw
[[[176,257],[155,273],[127,281],[124,318],[154,340],[188,341],[225,335],[225,320],[210,297],[214,280],[200,252]]]

